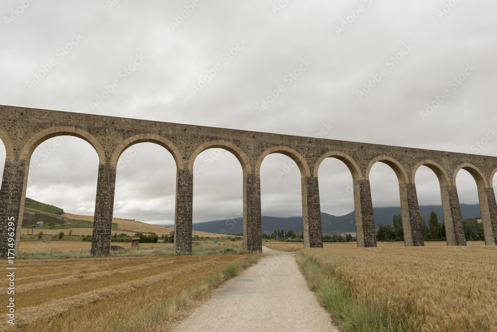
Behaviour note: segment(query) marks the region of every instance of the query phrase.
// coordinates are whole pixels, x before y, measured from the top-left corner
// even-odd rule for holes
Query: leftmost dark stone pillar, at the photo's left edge
[[[8,250],[19,253],[21,241],[22,217],[29,163],[13,159],[5,160],[0,191],[0,257],[7,257]],[[9,229],[8,222],[15,224],[14,232]],[[14,248],[8,245],[9,233],[15,233]],[[10,250],[12,256],[12,250]]]

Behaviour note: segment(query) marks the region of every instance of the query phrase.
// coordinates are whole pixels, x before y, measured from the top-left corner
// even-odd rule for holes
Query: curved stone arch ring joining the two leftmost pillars
[[[33,135],[21,150],[20,159],[29,161],[34,150],[44,141],[57,136],[75,136],[88,142],[98,154],[98,163],[105,164],[105,153],[102,145],[88,132],[76,127],[52,127]]]

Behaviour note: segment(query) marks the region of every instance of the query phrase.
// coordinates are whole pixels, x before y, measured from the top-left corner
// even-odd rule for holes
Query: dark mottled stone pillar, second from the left
[[[115,165],[98,165],[95,215],[93,218],[93,236],[91,239],[92,256],[108,255],[110,252],[116,169]]]

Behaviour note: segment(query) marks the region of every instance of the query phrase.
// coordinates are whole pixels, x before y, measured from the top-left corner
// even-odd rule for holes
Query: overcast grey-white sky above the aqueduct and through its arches
[[[497,138],[485,140],[497,126],[496,11],[494,0],[2,0],[0,104],[497,156]],[[93,214],[96,152],[55,140],[34,152],[27,196]],[[0,169],[4,158],[0,145]],[[200,165],[194,222],[241,216],[237,159],[208,150]],[[377,165],[373,206],[400,206],[393,170]],[[114,216],[173,223],[175,172],[163,148],[131,147]],[[326,160],[322,211],[353,211],[351,183],[344,164]],[[461,203],[478,203],[469,173],[457,185]],[[441,204],[431,170],[419,169],[416,186],[420,205]],[[288,157],[264,160],[261,205],[263,215],[302,215]]]

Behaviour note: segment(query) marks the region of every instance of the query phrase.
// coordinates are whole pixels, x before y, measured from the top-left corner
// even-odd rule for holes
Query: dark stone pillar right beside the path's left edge
[[[262,253],[260,174],[244,174],[244,250]]]

